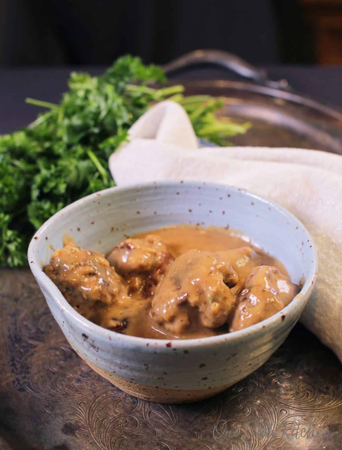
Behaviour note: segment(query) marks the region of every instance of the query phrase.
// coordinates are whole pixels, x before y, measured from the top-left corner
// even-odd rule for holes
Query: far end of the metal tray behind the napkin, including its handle
[[[193,66],[216,65],[243,80],[182,80]],[[225,98],[221,111],[234,121],[251,121],[244,135],[230,138],[234,145],[298,147],[342,154],[342,111],[295,92],[286,80],[272,81],[235,55],[219,50],[197,50],[167,64],[169,77],[185,86],[187,95]],[[231,73],[231,72],[230,72]],[[245,81],[247,78],[248,81]]]

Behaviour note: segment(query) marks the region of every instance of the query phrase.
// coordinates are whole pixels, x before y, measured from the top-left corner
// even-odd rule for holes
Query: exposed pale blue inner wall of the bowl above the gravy
[[[107,253],[128,235],[175,224],[229,226],[277,257],[294,283],[313,276],[314,243],[293,215],[243,189],[201,182],[112,188],[83,198],[37,231],[29,262],[47,264],[65,233],[80,247]]]

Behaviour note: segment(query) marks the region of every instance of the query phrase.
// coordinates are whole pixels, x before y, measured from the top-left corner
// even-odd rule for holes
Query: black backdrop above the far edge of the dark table
[[[228,50],[251,63],[314,63],[299,0],[1,0],[0,65],[110,64],[122,54],[166,63]]]

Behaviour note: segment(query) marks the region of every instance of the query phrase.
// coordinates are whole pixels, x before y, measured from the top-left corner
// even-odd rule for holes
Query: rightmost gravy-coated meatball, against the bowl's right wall
[[[238,293],[229,332],[257,324],[281,311],[298,292],[297,284],[291,283],[276,267],[255,267]]]

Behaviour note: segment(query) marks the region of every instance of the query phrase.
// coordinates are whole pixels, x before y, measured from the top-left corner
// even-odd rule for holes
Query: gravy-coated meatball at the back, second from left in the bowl
[[[144,288],[146,296],[166,274],[174,258],[160,238],[148,234],[146,238],[122,241],[108,255],[111,266],[128,283],[130,292]]]

